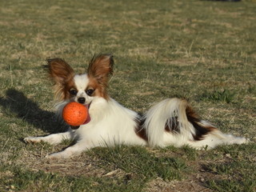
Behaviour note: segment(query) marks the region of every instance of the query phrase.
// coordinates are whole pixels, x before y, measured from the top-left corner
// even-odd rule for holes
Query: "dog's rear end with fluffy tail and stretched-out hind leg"
[[[209,122],[201,120],[186,100],[179,98],[168,98],[152,106],[144,115],[144,129],[149,146],[212,148],[222,143],[245,142],[245,138],[222,134]]]

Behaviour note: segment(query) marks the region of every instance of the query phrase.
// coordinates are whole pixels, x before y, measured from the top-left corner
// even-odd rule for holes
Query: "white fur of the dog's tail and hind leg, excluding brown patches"
[[[178,117],[178,126],[180,134],[170,134],[163,128],[170,117]],[[212,126],[209,122],[201,121],[202,125]],[[151,107],[146,113],[146,131],[150,146],[191,146],[198,150],[207,147],[212,149],[221,144],[242,144],[246,138],[234,137],[230,134],[222,134],[220,130],[214,130],[206,134],[201,141],[194,141],[194,126],[186,117],[186,101],[178,98],[165,99],[155,106]],[[156,128],[158,127],[158,128]],[[161,128],[160,128],[161,127]],[[160,129],[159,129],[160,128]]]

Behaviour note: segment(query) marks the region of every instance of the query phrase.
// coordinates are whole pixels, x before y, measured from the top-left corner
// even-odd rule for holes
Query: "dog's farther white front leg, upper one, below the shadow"
[[[58,134],[50,134],[44,137],[28,137],[24,138],[24,142],[26,143],[37,143],[37,142],[47,142],[51,145],[57,145],[58,143],[61,143],[64,139],[72,139],[74,138],[74,134],[72,133],[72,130],[68,130],[64,133],[58,133]]]

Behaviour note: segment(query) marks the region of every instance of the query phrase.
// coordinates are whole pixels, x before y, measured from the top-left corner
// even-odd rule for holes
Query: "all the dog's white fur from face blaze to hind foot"
[[[121,106],[114,99],[105,99],[101,97],[90,97],[85,93],[89,79],[86,74],[76,75],[74,82],[78,88],[78,95],[72,98],[72,101],[78,101],[78,97],[85,97],[86,103],[90,103],[91,121],[82,125],[78,130],[69,129],[66,133],[50,134],[46,137],[29,137],[25,142],[49,142],[56,145],[62,142],[62,139],[75,139],[74,146],[67,147],[58,153],[50,154],[47,158],[69,158],[88,150],[95,146],[114,146],[114,145],[138,145],[138,146],[184,146],[189,145],[196,149],[204,147],[214,148],[221,144],[245,143],[246,138],[236,138],[232,135],[222,134],[219,130],[214,130],[206,134],[201,141],[194,141],[194,126],[186,117],[186,102],[178,98],[171,98],[158,102],[144,114],[146,119],[144,129],[148,141],[140,138],[135,132],[137,126],[138,114],[132,110]],[[58,103],[58,114],[62,114],[62,108],[67,102]],[[180,133],[167,132],[165,130],[166,122],[171,117],[178,117],[178,127]],[[168,120],[169,119],[169,120]],[[172,122],[169,122],[172,123]],[[202,125],[209,126],[208,122],[200,122]]]

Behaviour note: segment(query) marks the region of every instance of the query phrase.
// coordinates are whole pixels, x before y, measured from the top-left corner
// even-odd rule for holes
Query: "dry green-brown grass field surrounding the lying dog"
[[[255,1],[0,2],[1,191],[254,191]],[[42,69],[60,57],[78,73],[114,54],[111,97],[143,112],[187,98],[220,130],[249,145],[96,148],[47,162],[60,146],[22,138],[65,130]]]

